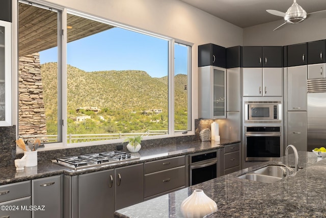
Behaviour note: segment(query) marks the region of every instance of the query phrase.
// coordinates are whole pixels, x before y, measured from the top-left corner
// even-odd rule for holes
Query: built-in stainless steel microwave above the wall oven
[[[245,102],[245,115],[247,123],[252,121],[281,122],[282,104],[278,101],[271,102]]]

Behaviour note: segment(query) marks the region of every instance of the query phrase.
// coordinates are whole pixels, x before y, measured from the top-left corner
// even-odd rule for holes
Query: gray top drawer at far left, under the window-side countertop
[[[0,202],[31,196],[31,181],[0,186]]]

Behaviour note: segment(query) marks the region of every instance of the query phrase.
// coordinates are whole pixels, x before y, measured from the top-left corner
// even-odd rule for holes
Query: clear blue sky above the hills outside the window
[[[187,74],[187,48],[175,46],[175,75]],[[57,48],[40,52],[41,64],[57,62]],[[113,28],[67,44],[67,63],[87,72],[144,70],[151,77],[168,75],[168,41]]]

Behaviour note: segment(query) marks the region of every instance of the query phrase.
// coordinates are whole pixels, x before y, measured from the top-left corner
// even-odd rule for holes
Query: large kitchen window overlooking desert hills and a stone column
[[[191,131],[190,44],[54,8],[19,2],[19,137],[60,148]]]

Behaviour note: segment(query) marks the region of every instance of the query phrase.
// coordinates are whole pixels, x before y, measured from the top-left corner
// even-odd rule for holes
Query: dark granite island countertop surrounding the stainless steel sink
[[[293,154],[289,155],[290,164],[293,159]],[[218,205],[218,211],[205,218],[326,217],[326,159],[317,161],[312,152],[299,152],[299,166],[304,168],[275,183],[237,178],[257,167],[279,162],[284,163],[284,157],[120,209],[115,217],[183,217],[181,202],[195,189],[203,189]]]

